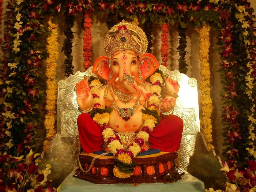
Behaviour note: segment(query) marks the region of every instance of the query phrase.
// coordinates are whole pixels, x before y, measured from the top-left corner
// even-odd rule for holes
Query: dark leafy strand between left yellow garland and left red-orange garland
[[[72,65],[73,56],[71,54],[74,33],[71,29],[75,24],[75,16],[74,16],[74,12],[69,11],[71,9],[71,7],[72,7],[72,4],[68,3],[67,8],[64,12],[64,15],[65,15],[65,29],[64,29],[65,39],[63,42],[63,48],[61,49],[61,52],[63,51],[65,54],[64,65],[65,65],[65,76],[66,77],[73,75],[73,72],[74,72],[74,66]]]

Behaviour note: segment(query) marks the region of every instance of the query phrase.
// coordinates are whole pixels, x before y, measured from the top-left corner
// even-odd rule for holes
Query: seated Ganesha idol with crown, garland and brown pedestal
[[[158,70],[140,27],[122,21],[104,39],[98,78],[76,84],[83,152],[75,177],[94,183],[162,182],[175,168],[183,122],[173,115],[177,81]],[[165,85],[166,97],[161,97]]]

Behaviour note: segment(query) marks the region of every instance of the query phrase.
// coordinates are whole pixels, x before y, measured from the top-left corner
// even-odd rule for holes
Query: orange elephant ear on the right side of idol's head
[[[139,68],[142,73],[143,79],[147,79],[152,75],[155,70],[159,67],[157,58],[153,54],[145,53],[142,54],[139,58]]]

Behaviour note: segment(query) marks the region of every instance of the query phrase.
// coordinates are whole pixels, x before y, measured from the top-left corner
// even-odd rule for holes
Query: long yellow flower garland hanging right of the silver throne
[[[199,42],[200,42],[200,50],[199,50],[199,59],[200,59],[200,89],[202,91],[201,97],[201,105],[202,112],[200,114],[201,120],[200,123],[202,125],[202,132],[207,142],[208,148],[214,148],[211,144],[212,142],[212,124],[211,124],[211,113],[212,113],[212,101],[210,97],[210,65],[208,63],[209,60],[209,47],[210,47],[210,37],[209,37],[209,26],[203,26],[202,29],[197,30],[199,33]]]

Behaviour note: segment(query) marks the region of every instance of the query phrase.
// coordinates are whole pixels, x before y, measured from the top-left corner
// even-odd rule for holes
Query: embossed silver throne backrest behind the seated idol
[[[92,67],[86,72],[76,72],[58,83],[58,111],[57,134],[52,139],[50,147],[51,159],[57,159],[55,168],[65,169],[70,173],[76,166],[76,136],[78,135],[77,118],[80,114],[76,102],[75,85],[86,76],[96,76],[91,72]],[[182,118],[184,129],[181,146],[178,151],[180,167],[187,169],[189,158],[195,150],[196,134],[199,130],[199,107],[197,95],[197,80],[181,74],[178,70],[170,71],[163,65],[159,70],[180,84],[174,114]],[[163,89],[162,93],[164,94]],[[165,95],[162,95],[165,97]],[[54,161],[54,160],[51,160]],[[55,171],[56,172],[56,171]],[[65,174],[63,174],[65,175]]]

